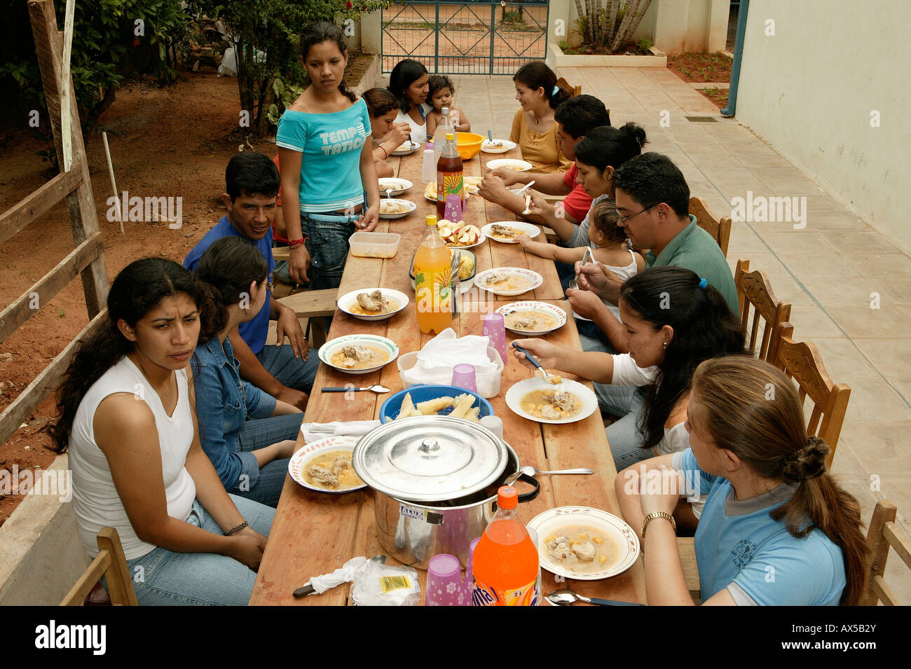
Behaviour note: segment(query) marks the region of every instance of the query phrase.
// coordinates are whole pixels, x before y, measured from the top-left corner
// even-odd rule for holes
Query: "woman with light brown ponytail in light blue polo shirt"
[[[693,540],[703,603],[858,603],[867,559],[860,508],[825,471],[829,447],[805,425],[793,383],[767,362],[699,366],[691,449],[621,471],[615,483],[640,532],[650,604],[692,603],[671,515],[684,494],[708,496]]]

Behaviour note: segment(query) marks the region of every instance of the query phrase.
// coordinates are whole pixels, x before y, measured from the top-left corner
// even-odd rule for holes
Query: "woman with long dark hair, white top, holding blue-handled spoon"
[[[630,412],[608,426],[617,470],[689,445],[683,421],[693,372],[716,356],[743,352],[740,323],[722,294],[680,267],[642,271],[620,291],[629,353],[563,349],[522,340],[545,368],[613,386],[637,387]],[[518,358],[524,358],[517,353]]]

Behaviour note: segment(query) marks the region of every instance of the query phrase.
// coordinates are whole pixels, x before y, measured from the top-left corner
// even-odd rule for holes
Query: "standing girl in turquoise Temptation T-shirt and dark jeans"
[[[379,222],[370,115],[345,85],[348,48],[341,30],[310,25],[301,52],[310,86],[279,119],[275,142],[291,246],[288,272],[311,289],[338,288],[348,238]]]

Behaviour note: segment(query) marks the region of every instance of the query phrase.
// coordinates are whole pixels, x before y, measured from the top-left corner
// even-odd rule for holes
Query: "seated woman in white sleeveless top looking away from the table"
[[[95,557],[98,530],[118,531],[140,604],[247,603],[274,515],[225,492],[200,447],[187,367],[203,302],[176,262],[129,264],[58,390],[79,537]]]

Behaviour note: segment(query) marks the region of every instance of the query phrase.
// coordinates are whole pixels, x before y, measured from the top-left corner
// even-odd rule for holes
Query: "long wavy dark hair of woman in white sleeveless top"
[[[57,390],[59,419],[47,431],[54,451],[67,451],[76,411],[87,390],[134,348],[118,329],[118,320],[136,327],[138,320],[158,307],[162,299],[179,293],[189,295],[198,307],[203,301],[200,287],[189,271],[173,260],[142,258],[120,271],[107,295],[107,321],[96,335],[79,342]]]

